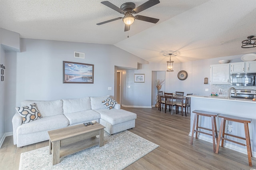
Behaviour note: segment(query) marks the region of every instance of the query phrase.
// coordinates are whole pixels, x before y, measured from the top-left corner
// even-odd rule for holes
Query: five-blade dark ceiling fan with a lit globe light
[[[126,3],[122,4],[120,8],[118,8],[117,6],[115,6],[114,4],[112,4],[108,1],[103,1],[100,3],[108,6],[109,8],[112,8],[113,10],[115,10],[121,14],[124,14],[124,17],[118,17],[118,18],[114,18],[112,20],[100,22],[97,25],[102,25],[102,24],[106,24],[108,22],[123,19],[123,22],[125,24],[124,31],[129,31],[130,25],[134,22],[134,20],[142,20],[142,21],[151,22],[154,24],[156,24],[159,21],[159,19],[151,18],[148,16],[142,16],[142,15],[133,16],[132,15],[132,14],[138,14],[139,12],[142,12],[143,10],[146,10],[146,9],[160,3],[159,0],[148,0],[147,2],[145,2],[144,4],[141,4],[138,7],[136,7],[136,5],[133,2],[126,2]]]

